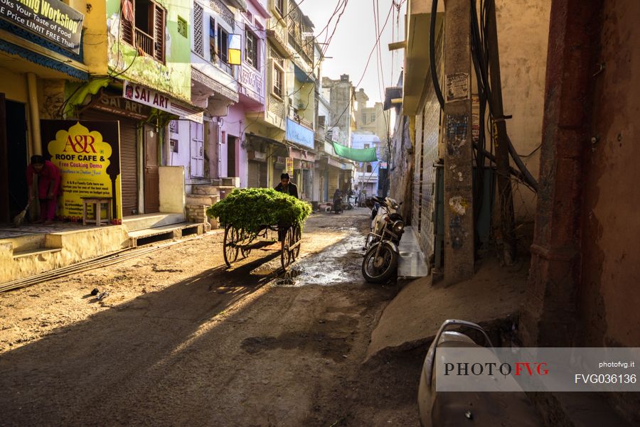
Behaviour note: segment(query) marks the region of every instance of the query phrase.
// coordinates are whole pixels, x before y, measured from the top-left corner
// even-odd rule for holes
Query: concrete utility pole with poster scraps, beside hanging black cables
[[[474,275],[471,144],[471,13],[468,0],[444,4],[444,284]]]

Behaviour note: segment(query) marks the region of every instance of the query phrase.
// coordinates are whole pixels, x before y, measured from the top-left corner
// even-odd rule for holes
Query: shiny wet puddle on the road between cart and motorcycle
[[[334,227],[331,227],[335,229]],[[339,227],[348,234],[336,244],[297,260],[276,279],[278,286],[334,286],[363,283],[361,262],[364,237],[353,227]]]

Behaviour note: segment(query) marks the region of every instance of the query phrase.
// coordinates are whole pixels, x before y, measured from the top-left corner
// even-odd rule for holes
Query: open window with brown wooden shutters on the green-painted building
[[[151,0],[124,0],[124,4],[122,40],[164,63],[165,10]]]

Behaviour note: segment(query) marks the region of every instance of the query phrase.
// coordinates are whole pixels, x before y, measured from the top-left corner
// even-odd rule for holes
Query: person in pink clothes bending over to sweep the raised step
[[[33,188],[33,175],[38,175],[38,188]],[[40,199],[40,221],[45,224],[53,222],[55,208],[58,207],[60,193],[60,170],[43,156],[31,156],[31,164],[26,170],[29,186],[29,200]]]

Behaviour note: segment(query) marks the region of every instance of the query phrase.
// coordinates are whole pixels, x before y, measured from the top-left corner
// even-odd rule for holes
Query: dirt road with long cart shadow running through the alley
[[[361,277],[366,225],[312,216],[277,279],[216,233],[0,294],[0,426],[417,426],[422,355],[362,364],[397,292]]]

